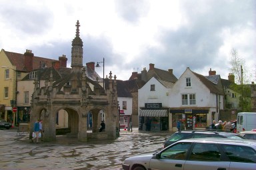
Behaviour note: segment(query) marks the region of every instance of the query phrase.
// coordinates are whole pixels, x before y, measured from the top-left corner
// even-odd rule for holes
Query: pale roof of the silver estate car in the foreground
[[[199,142],[199,143],[224,143],[224,144],[241,144],[241,145],[254,145],[256,147],[256,141],[250,139],[229,139],[219,137],[203,137],[203,138],[191,138],[183,139],[177,142]]]

